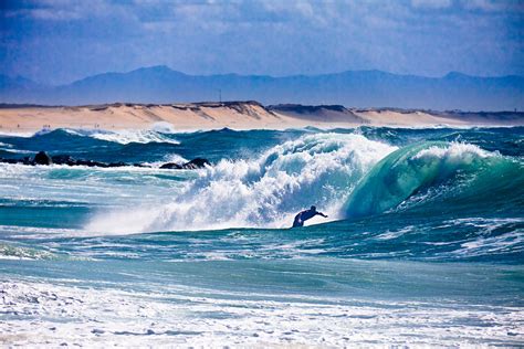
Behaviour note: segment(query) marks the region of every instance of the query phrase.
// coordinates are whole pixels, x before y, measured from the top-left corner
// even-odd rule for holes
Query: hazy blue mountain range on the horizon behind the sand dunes
[[[324,75],[187,75],[167,66],[106,73],[43,86],[0,75],[0,103],[86,105],[114,102],[260,101],[263,104],[344,105],[462,110],[524,109],[524,77],[443,77],[348,71]]]

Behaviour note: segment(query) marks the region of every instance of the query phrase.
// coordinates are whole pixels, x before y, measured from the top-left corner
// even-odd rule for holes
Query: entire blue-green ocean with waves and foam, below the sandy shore
[[[151,168],[0,165],[0,345],[524,346],[524,128],[0,136],[39,150]]]

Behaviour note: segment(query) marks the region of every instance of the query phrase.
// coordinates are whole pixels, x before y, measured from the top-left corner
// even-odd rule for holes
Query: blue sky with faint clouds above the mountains
[[[524,75],[523,0],[0,0],[0,73],[65,84],[354,70]]]

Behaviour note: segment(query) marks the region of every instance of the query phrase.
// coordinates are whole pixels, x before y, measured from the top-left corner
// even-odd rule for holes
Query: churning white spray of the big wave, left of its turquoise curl
[[[302,136],[271,148],[254,161],[222,160],[203,170],[171,202],[160,208],[102,214],[87,230],[136,233],[281,228],[311,204],[337,219],[350,189],[395,149],[360,135]]]

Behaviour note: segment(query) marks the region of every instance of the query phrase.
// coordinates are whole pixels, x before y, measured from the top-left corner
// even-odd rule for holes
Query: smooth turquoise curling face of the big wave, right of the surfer
[[[382,159],[366,174],[346,204],[346,215],[378,214],[401,203],[404,208],[415,202],[447,205],[452,203],[446,200],[457,201],[461,197],[474,205],[492,205],[494,201],[512,205],[513,200],[522,198],[522,170],[521,161],[469,144],[407,146]],[[446,199],[434,200],[442,195]],[[479,202],[475,197],[492,200]]]

